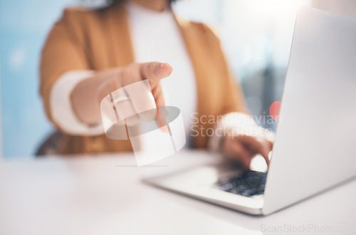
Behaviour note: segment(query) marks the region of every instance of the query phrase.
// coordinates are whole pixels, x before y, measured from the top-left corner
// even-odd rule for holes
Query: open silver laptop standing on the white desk
[[[212,164],[144,181],[268,215],[356,176],[356,21],[303,7],[267,172]]]

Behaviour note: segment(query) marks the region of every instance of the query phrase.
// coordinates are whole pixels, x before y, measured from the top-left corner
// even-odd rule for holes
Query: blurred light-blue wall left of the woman
[[[38,93],[41,47],[76,0],[0,0],[1,129],[4,157],[31,156],[51,132]]]

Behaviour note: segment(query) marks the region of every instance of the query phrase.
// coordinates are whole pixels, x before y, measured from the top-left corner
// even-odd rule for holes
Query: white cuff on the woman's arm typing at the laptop
[[[228,113],[216,125],[215,135],[209,138],[208,148],[211,151],[221,150],[221,142],[226,135],[263,136],[274,142],[275,135],[271,130],[260,127],[251,116],[244,113]]]

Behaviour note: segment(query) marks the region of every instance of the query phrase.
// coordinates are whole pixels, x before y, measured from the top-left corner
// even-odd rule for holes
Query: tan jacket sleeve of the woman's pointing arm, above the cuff
[[[65,9],[51,29],[41,53],[40,93],[46,115],[59,130],[51,113],[51,91],[58,78],[68,71],[90,70],[83,45],[78,10]]]

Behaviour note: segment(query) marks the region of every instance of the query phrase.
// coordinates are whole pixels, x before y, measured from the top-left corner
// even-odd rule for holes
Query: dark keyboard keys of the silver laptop
[[[265,190],[267,172],[245,172],[233,177],[219,179],[219,189],[245,197],[263,194]]]

